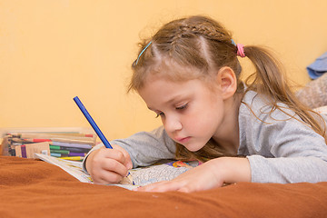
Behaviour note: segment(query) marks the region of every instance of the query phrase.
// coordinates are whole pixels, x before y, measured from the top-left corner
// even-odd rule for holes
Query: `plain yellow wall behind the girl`
[[[0,0],[0,127],[88,126],[109,139],[160,124],[125,94],[140,35],[183,15],[211,15],[244,45],[268,45],[292,79],[327,47],[325,0]],[[245,63],[246,64],[246,63]]]

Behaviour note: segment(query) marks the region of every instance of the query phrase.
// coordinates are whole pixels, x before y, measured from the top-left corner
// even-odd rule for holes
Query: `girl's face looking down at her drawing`
[[[199,79],[173,82],[149,75],[139,94],[148,108],[161,117],[173,141],[189,151],[200,150],[223,127],[221,91],[209,89]]]

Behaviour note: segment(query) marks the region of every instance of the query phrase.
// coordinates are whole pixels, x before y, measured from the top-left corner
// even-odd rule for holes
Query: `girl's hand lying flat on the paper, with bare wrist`
[[[251,182],[250,163],[246,158],[221,157],[203,163],[172,181],[152,183],[134,191],[191,193],[236,182]]]

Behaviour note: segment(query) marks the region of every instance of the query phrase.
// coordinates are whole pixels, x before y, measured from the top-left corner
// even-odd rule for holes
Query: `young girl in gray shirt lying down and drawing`
[[[237,55],[256,73],[245,84]],[[281,67],[261,47],[234,45],[204,16],[174,20],[142,44],[134,90],[163,122],[151,133],[96,146],[85,159],[94,183],[118,183],[128,170],[161,159],[204,163],[173,181],[137,191],[193,192],[223,183],[327,181],[322,116],[294,97]]]

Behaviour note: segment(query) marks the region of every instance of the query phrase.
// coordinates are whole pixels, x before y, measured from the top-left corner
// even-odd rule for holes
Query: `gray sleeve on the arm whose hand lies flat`
[[[320,134],[295,119],[261,124],[257,130],[247,155],[254,183],[327,181],[327,145]]]

